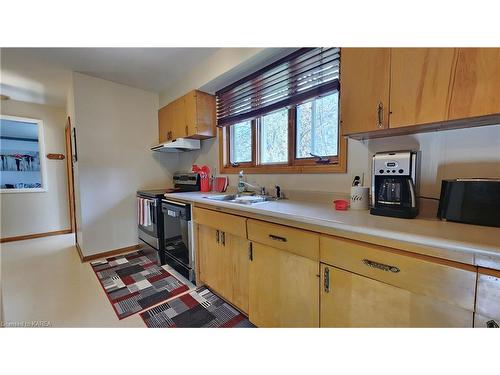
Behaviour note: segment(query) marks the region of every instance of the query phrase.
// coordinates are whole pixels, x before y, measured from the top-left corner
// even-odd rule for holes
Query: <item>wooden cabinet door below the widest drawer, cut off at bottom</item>
[[[472,327],[473,313],[321,264],[321,327]]]

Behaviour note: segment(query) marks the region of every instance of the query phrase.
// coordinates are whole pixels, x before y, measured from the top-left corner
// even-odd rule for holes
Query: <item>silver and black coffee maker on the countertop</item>
[[[418,215],[420,153],[379,152],[372,163],[372,215],[412,219]]]

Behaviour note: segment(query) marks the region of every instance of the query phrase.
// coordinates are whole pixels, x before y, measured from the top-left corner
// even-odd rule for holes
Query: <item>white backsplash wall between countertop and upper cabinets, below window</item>
[[[202,141],[202,149],[184,153],[180,164],[188,170],[192,164],[219,168],[217,140]],[[347,173],[323,174],[252,174],[249,182],[268,188],[274,185],[286,191],[310,190],[349,193],[352,176],[365,174],[370,185],[371,157],[376,152],[414,149],[422,151],[420,195],[439,198],[441,180],[457,177],[500,178],[500,125],[421,133],[369,141],[349,140]],[[229,175],[231,185],[237,176]]]

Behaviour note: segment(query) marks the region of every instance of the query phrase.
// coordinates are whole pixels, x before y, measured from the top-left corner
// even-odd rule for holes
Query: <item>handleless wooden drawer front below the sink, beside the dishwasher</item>
[[[247,238],[246,220],[241,216],[224,214],[222,212],[195,207],[193,209],[194,222],[207,227],[221,230],[235,236]]]

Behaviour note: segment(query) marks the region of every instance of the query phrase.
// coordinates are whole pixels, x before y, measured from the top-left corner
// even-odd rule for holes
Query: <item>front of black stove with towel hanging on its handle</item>
[[[165,197],[167,190],[141,190],[137,192],[138,216],[140,205],[144,202],[149,208],[149,220],[141,224],[138,222],[139,240],[145,248],[156,251],[159,264],[165,264],[161,249],[163,249],[163,213],[161,211],[161,200]],[[144,199],[141,201],[139,198]]]

